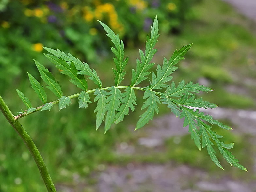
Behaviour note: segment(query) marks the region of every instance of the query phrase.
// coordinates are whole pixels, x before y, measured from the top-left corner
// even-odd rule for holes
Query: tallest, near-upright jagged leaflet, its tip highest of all
[[[158,29],[158,21],[157,21],[157,17],[155,17],[153,27],[151,27],[150,38],[147,35],[145,55],[144,55],[143,51],[139,50],[141,61],[139,61],[137,59],[136,72],[134,69],[132,70],[131,86],[136,86],[141,81],[144,81],[145,79],[147,79],[147,77],[145,77],[145,76],[150,74],[150,72],[148,72],[148,70],[154,66],[154,63],[149,63],[149,62],[152,60],[154,54],[157,52],[157,49],[153,49],[153,48],[157,42],[156,39],[159,37],[158,30],[159,30]]]

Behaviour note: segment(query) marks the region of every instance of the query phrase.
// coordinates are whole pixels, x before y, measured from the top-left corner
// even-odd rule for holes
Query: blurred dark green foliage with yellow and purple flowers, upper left
[[[1,1],[0,89],[35,69],[33,59],[44,59],[39,54],[42,46],[70,52],[82,61],[102,62],[111,42],[97,20],[118,33],[125,45],[134,46],[145,41],[155,15],[166,33],[179,30],[197,1]]]

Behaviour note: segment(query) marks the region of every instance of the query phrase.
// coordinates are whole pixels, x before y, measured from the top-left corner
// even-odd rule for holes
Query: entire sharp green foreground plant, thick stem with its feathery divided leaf
[[[204,115],[203,112],[199,113],[198,109],[194,111],[194,109],[187,108],[216,108],[216,104],[203,101],[202,98],[195,99],[195,94],[193,94],[199,93],[199,91],[209,92],[212,91],[212,89],[199,85],[198,83],[193,84],[192,81],[185,84],[184,80],[182,80],[177,87],[175,86],[174,82],[172,82],[171,86],[165,84],[166,82],[172,80],[173,77],[170,75],[177,69],[175,65],[180,60],[184,59],[182,56],[185,55],[191,45],[182,47],[179,51],[175,50],[169,61],[164,58],[163,66],[157,66],[157,74],[155,75],[155,73],[152,72],[152,81],[150,81],[150,85],[147,87],[137,87],[138,84],[147,79],[146,76],[150,74],[148,70],[151,69],[155,64],[150,63],[154,54],[157,52],[157,49],[154,49],[154,46],[159,36],[158,21],[157,17],[155,17],[153,26],[151,27],[151,35],[150,37],[147,36],[145,53],[142,50],[139,51],[140,60],[137,59],[136,71],[134,69],[132,70],[131,85],[119,86],[126,74],[126,72],[124,72],[124,68],[128,62],[128,57],[124,59],[124,44],[122,41],[120,41],[118,34],[115,35],[115,33],[107,25],[101,21],[99,22],[107,32],[107,36],[110,37],[111,41],[115,45],[115,48],[111,47],[112,52],[116,56],[116,58],[114,58],[116,70],[113,69],[115,74],[115,87],[112,86],[103,88],[102,82],[99,76],[97,76],[97,72],[94,69],[91,69],[87,63],[82,63],[79,59],[76,59],[71,54],[68,53],[67,55],[60,50],[45,48],[48,52],[53,54],[45,54],[45,56],[52,63],[54,63],[58,69],[61,70],[61,73],[71,77],[72,79],[70,81],[78,88],[81,88],[83,91],[68,97],[64,96],[59,83],[56,82],[52,73],[35,60],[35,64],[41,75],[41,78],[47,84],[46,88],[50,89],[51,92],[53,92],[54,95],[56,95],[59,99],[48,103],[43,87],[30,73],[28,73],[28,76],[32,85],[31,87],[34,89],[39,99],[44,103],[42,106],[37,108],[32,107],[30,100],[21,91],[16,89],[19,97],[27,107],[27,110],[26,112],[19,112],[20,115],[13,117],[12,113],[10,111],[8,112],[9,109],[5,106],[5,103],[1,98],[1,111],[4,113],[16,132],[24,140],[24,143],[33,155],[47,190],[56,191],[52,183],[52,179],[50,178],[48,171],[45,169],[45,165],[42,165],[42,158],[40,153],[37,152],[34,144],[34,146],[30,146],[32,144],[32,140],[25,131],[22,131],[23,128],[17,120],[36,111],[50,111],[54,104],[59,104],[59,110],[64,109],[66,106],[70,105],[71,99],[76,97],[79,99],[79,107],[87,108],[88,103],[92,103],[88,93],[94,93],[94,95],[96,95],[94,102],[98,101],[97,107],[94,110],[94,112],[97,112],[96,130],[100,127],[102,121],[104,121],[104,116],[106,116],[104,128],[105,133],[110,129],[111,124],[117,124],[122,121],[124,115],[128,115],[129,108],[134,111],[134,105],[136,105],[136,96],[134,90],[145,91],[143,99],[147,100],[144,102],[141,109],[143,110],[147,108],[147,110],[140,116],[135,130],[143,127],[146,123],[149,122],[150,119],[152,120],[155,112],[158,113],[157,103],[160,103],[160,96],[162,98],[161,101],[163,104],[167,104],[168,107],[171,108],[172,112],[176,115],[176,117],[185,117],[183,126],[185,127],[188,125],[189,132],[191,133],[191,139],[194,140],[197,148],[200,151],[200,136],[202,136],[202,147],[207,147],[208,154],[218,167],[222,168],[215,155],[216,152],[212,147],[214,145],[212,140],[216,143],[220,153],[231,166],[234,165],[235,167],[247,171],[244,166],[238,163],[237,159],[234,159],[235,156],[233,156],[232,153],[227,150],[231,149],[234,143],[225,144],[224,142],[221,142],[219,139],[221,139],[223,136],[218,135],[216,132],[212,131],[212,127],[207,125],[205,121],[209,124],[215,124],[223,129],[230,130],[231,128],[229,126],[223,125],[223,123],[220,123],[217,120],[213,120],[212,116],[210,115]],[[88,84],[83,75],[89,76],[88,79],[92,80],[99,88],[88,90]],[[162,90],[163,88],[167,88],[165,92],[155,91],[157,89]],[[125,89],[125,92],[121,93],[120,89]],[[175,99],[177,97],[178,99]],[[194,120],[196,120],[196,122]],[[212,140],[210,140],[210,138]]]

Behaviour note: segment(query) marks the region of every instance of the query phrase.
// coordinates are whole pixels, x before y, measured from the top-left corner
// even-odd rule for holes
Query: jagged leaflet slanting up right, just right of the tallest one
[[[168,85],[164,84],[170,80],[172,80],[172,76],[170,76],[173,71],[178,69],[174,65],[176,65],[180,60],[183,60],[186,52],[189,50],[192,44],[186,45],[185,47],[182,47],[179,51],[177,49],[174,51],[172,57],[167,62],[167,59],[164,58],[163,67],[161,68],[160,65],[157,65],[157,77],[152,72],[152,85],[150,89],[162,89],[165,87],[168,87]]]

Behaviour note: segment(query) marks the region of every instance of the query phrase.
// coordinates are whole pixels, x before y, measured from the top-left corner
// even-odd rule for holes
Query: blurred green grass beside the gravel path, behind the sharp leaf
[[[199,5],[193,7],[192,13],[193,21],[183,26],[181,34],[170,36],[162,33],[160,35],[157,44],[158,53],[154,57],[154,62],[162,64],[163,56],[169,57],[174,48],[193,43],[191,50],[185,56],[186,59],[178,64],[179,69],[174,73],[176,84],[182,79],[185,79],[186,82],[193,80],[196,83],[199,78],[204,78],[209,82],[208,86],[215,89],[212,93],[203,94],[205,100],[221,107],[255,109],[255,85],[245,84],[246,79],[256,78],[256,36],[255,31],[250,28],[251,21],[237,14],[226,3],[217,0],[201,1]],[[144,49],[144,45],[140,48]],[[139,57],[138,49],[129,48],[126,54],[130,56],[126,68],[128,80],[125,83],[128,84],[131,68],[136,68],[136,58]],[[104,60],[106,63],[111,62],[113,66],[111,58]],[[104,68],[106,63],[95,66],[95,69],[102,77],[103,83],[114,82],[112,70],[109,67]],[[97,70],[100,68],[104,68],[104,70]],[[56,79],[62,78],[59,77]],[[67,79],[60,80],[66,93],[78,92],[73,85],[65,85],[62,82],[67,82]],[[246,95],[241,95],[238,92],[231,93],[226,89],[226,86],[229,85],[243,86],[248,88],[248,92]],[[32,89],[26,89],[29,86],[28,80],[20,83],[17,79],[16,84],[5,91],[3,98],[7,98],[6,102],[13,112],[24,108],[14,88],[19,88],[26,95],[33,95]],[[142,98],[139,92],[136,94],[138,98]],[[49,99],[53,97],[51,93],[47,96]],[[136,122],[131,125],[131,120],[138,120],[142,103],[142,99],[139,99],[135,112],[106,135],[104,135],[103,127],[100,127],[99,131],[95,131],[96,118],[93,112],[95,104],[89,104],[86,110],[78,109],[75,100],[72,101],[70,107],[60,112],[57,107],[54,107],[50,112],[35,113],[20,121],[38,146],[56,183],[70,184],[73,181],[74,173],[88,176],[92,171],[98,170],[99,164],[124,165],[130,161],[165,163],[174,160],[220,174],[219,168],[211,162],[207,150],[203,149],[202,152],[198,152],[189,135],[169,138],[166,140],[164,148],[157,153],[154,150],[145,150],[145,148],[137,146],[137,138],[146,136],[146,128],[134,133],[127,129],[127,124],[134,127]],[[40,105],[33,99],[32,104]],[[163,112],[160,112],[160,115],[169,112],[164,105],[160,105],[160,111],[161,109]],[[2,115],[0,115],[0,123],[2,125],[0,192],[45,191],[39,171],[26,147],[21,144],[21,139]],[[235,135],[230,132],[223,134],[225,135],[223,138],[227,139],[227,142],[236,141],[232,152],[237,155],[246,168],[252,169],[253,162],[244,155],[245,152],[253,153],[253,148],[247,142],[247,138],[250,136]],[[243,142],[244,140],[246,142]],[[115,154],[116,145],[121,142],[133,143],[147,155],[117,156]],[[240,170],[226,165],[222,157],[219,159],[225,171],[231,173],[233,177],[244,176],[243,174],[241,176]],[[22,179],[21,184],[19,182],[17,184],[19,181],[17,178]]]

